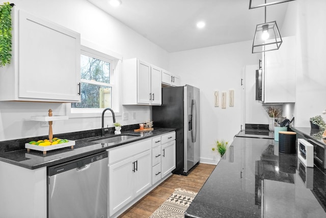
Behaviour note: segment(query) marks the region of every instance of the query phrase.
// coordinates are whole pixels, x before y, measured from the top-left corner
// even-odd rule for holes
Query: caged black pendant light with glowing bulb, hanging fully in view
[[[256,26],[252,53],[277,50],[280,48],[281,44],[282,38],[276,21],[266,22],[265,7],[265,22]]]

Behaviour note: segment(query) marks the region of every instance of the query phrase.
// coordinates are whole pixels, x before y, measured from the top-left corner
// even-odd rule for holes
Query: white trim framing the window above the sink
[[[121,116],[121,61],[122,56],[104,49],[102,46],[96,45],[94,43],[82,40],[82,45],[80,46],[80,53],[82,55],[87,55],[94,57],[103,61],[111,62],[111,70],[113,70],[113,80],[112,92],[118,92],[112,96],[112,108],[116,116]],[[118,86],[118,89],[114,88]],[[69,118],[84,118],[84,117],[101,117],[103,108],[71,108],[71,103],[66,103],[66,115]],[[112,116],[111,113],[105,113],[105,116]]]

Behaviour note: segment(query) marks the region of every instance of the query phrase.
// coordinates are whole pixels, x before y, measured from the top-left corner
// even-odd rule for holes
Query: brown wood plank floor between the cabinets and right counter
[[[122,213],[119,218],[148,218],[165,200],[170,197],[175,188],[199,192],[214,168],[215,165],[199,163],[199,165],[188,176],[173,174],[154,188],[144,198]]]

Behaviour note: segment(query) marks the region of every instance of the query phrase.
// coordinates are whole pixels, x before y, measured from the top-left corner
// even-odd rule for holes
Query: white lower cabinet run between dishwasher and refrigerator
[[[107,151],[108,213],[117,217],[175,169],[175,131]]]

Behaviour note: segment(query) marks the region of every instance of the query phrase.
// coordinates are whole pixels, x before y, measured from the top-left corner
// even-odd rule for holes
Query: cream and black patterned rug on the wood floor
[[[176,188],[174,193],[149,218],[183,218],[197,193]]]

